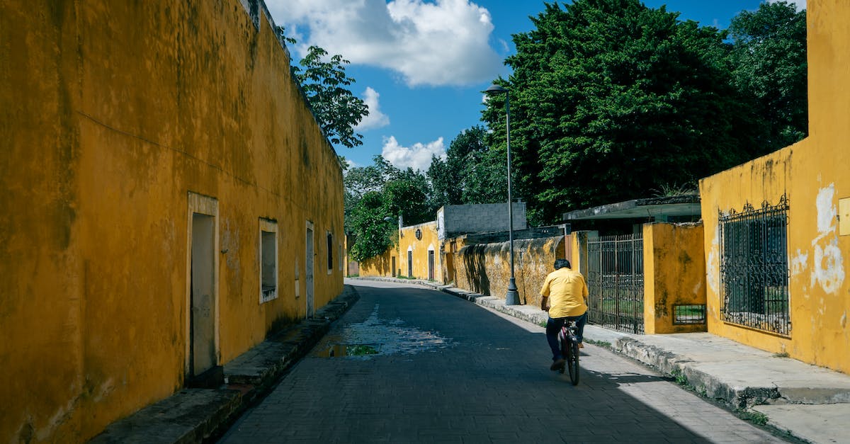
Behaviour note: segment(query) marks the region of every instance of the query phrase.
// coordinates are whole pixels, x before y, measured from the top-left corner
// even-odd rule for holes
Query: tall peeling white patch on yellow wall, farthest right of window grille
[[[812,241],[813,268],[812,287],[817,283],[826,293],[836,293],[844,283],[844,260],[838,248],[836,215],[838,208],[833,203],[836,185],[821,188],[815,205],[818,210],[818,233]]]

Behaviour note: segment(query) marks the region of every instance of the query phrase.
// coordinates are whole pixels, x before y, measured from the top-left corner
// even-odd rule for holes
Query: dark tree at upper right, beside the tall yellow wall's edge
[[[778,150],[808,133],[806,11],[792,3],[762,3],[742,11],[728,29],[732,80],[751,94],[763,117],[768,151]]]

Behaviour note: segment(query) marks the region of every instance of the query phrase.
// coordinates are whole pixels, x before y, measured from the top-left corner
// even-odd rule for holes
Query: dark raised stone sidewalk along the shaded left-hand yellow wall
[[[354,287],[316,310],[312,319],[277,333],[224,365],[218,389],[183,389],[108,425],[97,444],[212,441],[241,413],[268,394],[299,359],[306,356],[331,324],[360,299]]]

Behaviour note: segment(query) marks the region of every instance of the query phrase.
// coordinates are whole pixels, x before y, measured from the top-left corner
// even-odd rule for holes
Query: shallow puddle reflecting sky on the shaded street
[[[379,305],[358,324],[350,324],[331,334],[316,347],[315,356],[366,357],[376,355],[412,355],[423,351],[445,349],[452,340],[436,332],[406,325],[400,319],[387,321],[377,316]]]

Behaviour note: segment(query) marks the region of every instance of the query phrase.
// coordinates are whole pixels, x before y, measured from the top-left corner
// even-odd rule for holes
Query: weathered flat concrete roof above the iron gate
[[[699,216],[700,196],[665,196],[632,199],[564,213],[564,220],[642,219],[668,216]]]

